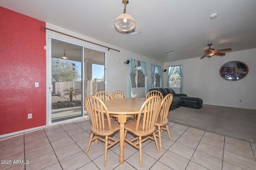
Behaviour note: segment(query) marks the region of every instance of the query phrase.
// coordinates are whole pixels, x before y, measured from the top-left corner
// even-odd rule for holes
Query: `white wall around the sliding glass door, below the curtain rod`
[[[98,45],[94,45],[92,43],[88,43],[85,41],[81,41],[72,37],[68,37],[66,35],[62,35],[59,33],[55,33],[52,31],[48,31],[47,30],[47,34],[46,34],[46,52],[47,52],[47,59],[48,59],[48,36],[53,36],[56,38],[60,38],[60,39],[65,39],[67,41],[71,41],[74,43],[79,43],[81,45],[86,45],[88,48],[93,48],[94,50],[100,50],[102,52],[106,53],[106,91],[112,93],[115,90],[122,90],[126,96],[128,96],[128,64],[125,64],[124,62],[126,60],[128,60],[129,58],[132,59],[136,59],[138,61],[144,61],[147,63],[147,70],[148,70],[148,77],[149,77],[149,72],[150,72],[150,63],[152,64],[156,64],[159,66],[164,66],[163,62],[160,61],[156,61],[154,59],[133,53],[131,51],[127,51],[125,49],[121,49],[119,47],[110,45],[108,43],[104,43],[102,41],[98,41],[96,39],[92,39],[90,37],[86,37],[84,35],[69,31],[67,29],[58,27],[56,25],[52,25],[50,23],[46,23],[46,27],[50,28],[50,29],[54,29],[56,31],[60,31],[62,33],[66,33],[68,35],[72,35],[74,37],[78,37],[80,39],[85,39],[87,41],[91,41],[93,43],[98,43],[100,45],[104,45],[106,47],[110,47],[113,49],[117,49],[120,50],[120,52],[118,51],[114,51],[112,49],[110,49],[108,51],[107,48],[105,47],[101,47]],[[130,36],[130,35],[127,35]],[[49,73],[48,73],[49,74]],[[148,78],[149,80],[149,78]],[[47,85],[49,86],[49,85]],[[146,96],[146,88],[134,88],[133,90],[133,96],[132,97],[145,97]]]

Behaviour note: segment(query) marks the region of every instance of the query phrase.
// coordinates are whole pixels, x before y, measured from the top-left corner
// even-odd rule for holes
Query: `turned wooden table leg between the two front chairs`
[[[124,124],[126,122],[126,115],[118,115],[118,122],[120,123],[119,139],[120,139],[120,154],[119,162],[124,163]]]

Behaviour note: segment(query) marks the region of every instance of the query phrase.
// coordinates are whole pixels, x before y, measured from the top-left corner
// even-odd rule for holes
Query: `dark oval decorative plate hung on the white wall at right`
[[[248,66],[241,61],[229,61],[220,67],[220,76],[224,80],[241,80],[248,74]]]

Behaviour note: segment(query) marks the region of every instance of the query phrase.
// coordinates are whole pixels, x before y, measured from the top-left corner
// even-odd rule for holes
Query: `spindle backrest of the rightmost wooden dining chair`
[[[172,104],[172,100],[173,100],[173,94],[167,94],[164,97],[164,99],[162,100],[161,107],[160,107],[160,113],[159,113],[159,117],[158,117],[158,120],[160,118],[160,123],[166,123],[166,121],[168,119],[169,109]]]

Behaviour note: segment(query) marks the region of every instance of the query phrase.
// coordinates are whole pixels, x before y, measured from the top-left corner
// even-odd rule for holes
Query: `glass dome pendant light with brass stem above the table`
[[[135,29],[136,24],[132,16],[126,14],[126,5],[129,3],[129,1],[122,0],[122,3],[124,4],[124,12],[116,18],[115,28],[117,31],[131,31]]]

